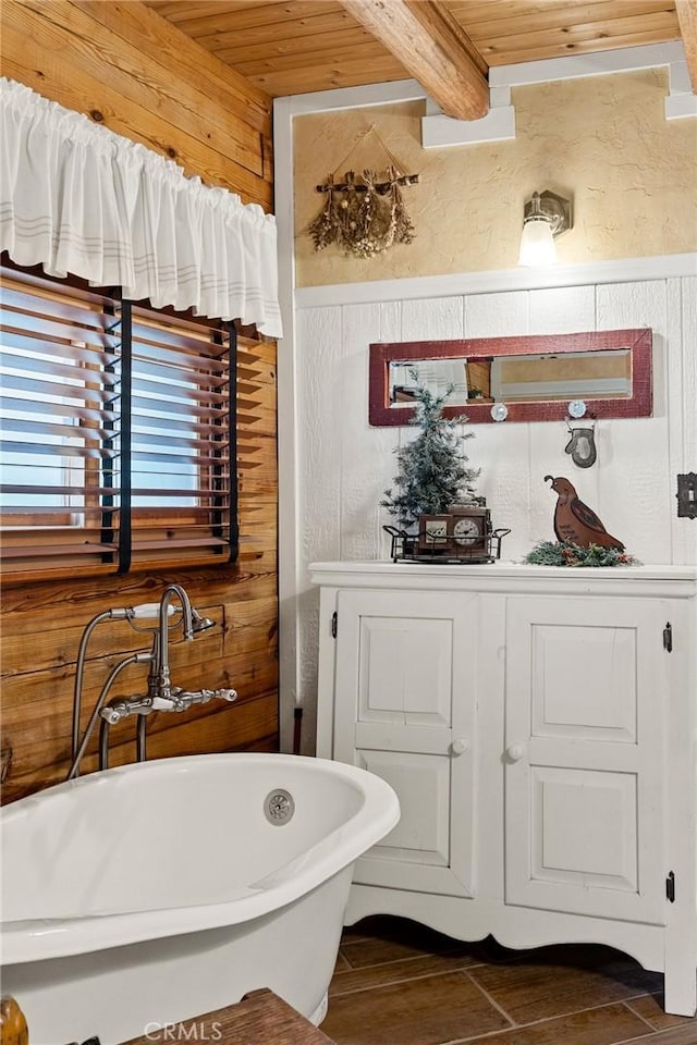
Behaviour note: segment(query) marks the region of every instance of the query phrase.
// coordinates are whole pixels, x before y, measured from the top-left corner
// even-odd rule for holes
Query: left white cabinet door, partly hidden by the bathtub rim
[[[338,617],[334,754],[388,780],[402,809],[354,880],[470,896],[476,597],[340,591]]]

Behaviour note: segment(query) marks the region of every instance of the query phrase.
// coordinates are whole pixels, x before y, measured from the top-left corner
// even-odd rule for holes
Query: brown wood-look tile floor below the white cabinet
[[[610,947],[513,951],[376,915],[344,931],[321,1030],[337,1045],[697,1045],[662,986]]]

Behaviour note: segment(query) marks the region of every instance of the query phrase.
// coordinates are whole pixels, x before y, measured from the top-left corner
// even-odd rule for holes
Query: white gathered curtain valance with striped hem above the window
[[[0,77],[0,249],[156,308],[281,336],[276,219]]]

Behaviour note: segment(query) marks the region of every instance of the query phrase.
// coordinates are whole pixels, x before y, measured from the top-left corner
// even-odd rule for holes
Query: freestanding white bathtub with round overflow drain
[[[292,816],[268,820],[283,792]],[[398,819],[379,777],[283,754],[145,762],[22,799],[0,814],[2,992],[32,1045],[114,1045],[264,986],[317,1023],[353,862]]]

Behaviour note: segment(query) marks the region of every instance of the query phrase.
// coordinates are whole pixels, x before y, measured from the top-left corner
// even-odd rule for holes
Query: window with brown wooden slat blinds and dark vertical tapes
[[[2,269],[3,574],[236,556],[232,324]]]

